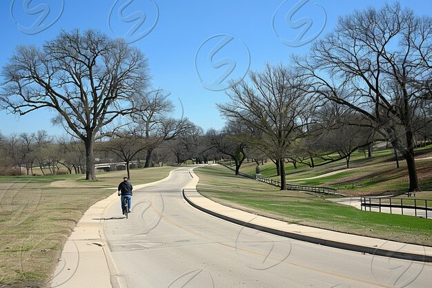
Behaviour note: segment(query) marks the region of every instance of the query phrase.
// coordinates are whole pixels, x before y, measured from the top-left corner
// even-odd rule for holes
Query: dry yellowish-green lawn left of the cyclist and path
[[[161,180],[173,169],[132,169],[131,182]],[[98,173],[94,181],[82,174],[0,177],[0,287],[44,287],[79,219],[125,173]]]

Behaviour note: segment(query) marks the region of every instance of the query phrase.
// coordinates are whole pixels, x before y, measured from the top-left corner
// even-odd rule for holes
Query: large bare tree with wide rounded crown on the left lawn
[[[146,88],[147,58],[123,39],[97,30],[62,31],[41,47],[18,46],[3,67],[0,103],[25,115],[57,111],[57,122],[86,147],[86,179],[95,179],[94,142],[101,129],[132,111]]]

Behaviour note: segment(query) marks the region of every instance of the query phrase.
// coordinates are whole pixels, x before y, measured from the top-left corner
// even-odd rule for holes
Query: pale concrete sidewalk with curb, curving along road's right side
[[[218,218],[244,227],[250,227],[295,240],[322,244],[328,247],[369,253],[377,256],[432,262],[432,247],[356,236],[298,224],[288,224],[283,221],[226,207],[200,195],[196,190],[199,177],[193,171],[190,171],[190,175],[193,177],[193,180],[184,186],[183,189],[185,200],[193,207]]]

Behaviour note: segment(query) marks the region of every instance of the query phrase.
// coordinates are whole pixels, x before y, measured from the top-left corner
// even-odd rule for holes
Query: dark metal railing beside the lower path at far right
[[[364,211],[366,211],[367,207],[369,207],[369,211],[371,209],[377,208],[378,211],[382,211],[383,208],[389,208],[390,213],[395,212],[395,210],[400,211],[402,215],[404,215],[404,209],[413,209],[415,216],[424,215],[425,218],[428,218],[428,211],[432,211],[432,207],[428,207],[427,199],[406,199],[406,198],[392,198],[392,197],[362,197],[360,198],[360,202],[362,205],[362,210],[364,207]],[[431,200],[429,200],[429,203]],[[424,211],[424,213],[418,213],[418,210]],[[430,213],[429,216],[432,214]]]

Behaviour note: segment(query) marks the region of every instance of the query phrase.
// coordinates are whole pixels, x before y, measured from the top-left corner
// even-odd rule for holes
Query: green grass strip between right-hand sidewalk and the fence
[[[322,195],[279,191],[277,187],[235,176],[222,166],[195,169],[197,190],[211,200],[290,223],[399,242],[432,246],[432,220],[360,211]]]

